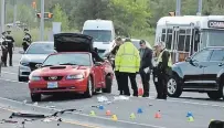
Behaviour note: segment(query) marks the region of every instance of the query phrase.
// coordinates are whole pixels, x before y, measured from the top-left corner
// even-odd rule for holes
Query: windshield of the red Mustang
[[[42,66],[49,65],[84,65],[90,66],[90,56],[86,53],[63,53],[50,55]]]

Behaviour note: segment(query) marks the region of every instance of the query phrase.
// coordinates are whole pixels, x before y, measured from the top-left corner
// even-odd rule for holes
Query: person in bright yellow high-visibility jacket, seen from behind
[[[120,77],[121,89],[124,95],[130,96],[128,77],[130,78],[134,96],[138,96],[138,87],[136,83],[136,75],[140,67],[140,55],[138,49],[131,43],[130,39],[126,39],[125,43],[120,45],[115,56],[115,71],[118,71]]]

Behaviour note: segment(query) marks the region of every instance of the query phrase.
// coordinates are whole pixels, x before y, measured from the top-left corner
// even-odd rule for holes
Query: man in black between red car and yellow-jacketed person
[[[122,44],[122,39],[118,36],[115,40],[115,42],[116,42],[116,46],[111,50],[111,53],[110,53],[113,56],[117,54],[117,51],[119,50],[120,45]],[[115,62],[113,64],[113,68],[115,68]],[[115,70],[115,76],[117,79],[118,90],[120,92],[120,95],[122,95],[124,90],[121,88],[119,74],[120,74],[119,71]]]

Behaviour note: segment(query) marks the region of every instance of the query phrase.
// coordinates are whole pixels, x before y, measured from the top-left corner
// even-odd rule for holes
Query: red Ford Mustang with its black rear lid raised
[[[55,34],[54,47],[57,53],[49,55],[29,76],[32,102],[55,93],[81,93],[92,97],[100,89],[111,92],[111,64],[94,52],[93,38],[77,33]]]

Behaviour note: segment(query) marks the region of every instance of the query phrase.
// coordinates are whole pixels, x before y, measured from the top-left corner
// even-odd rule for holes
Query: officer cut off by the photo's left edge
[[[1,51],[2,51],[2,56],[1,61],[3,66],[7,66],[7,53],[8,53],[8,42],[7,42],[7,32],[2,32],[2,43],[1,43]]]

